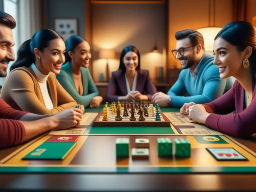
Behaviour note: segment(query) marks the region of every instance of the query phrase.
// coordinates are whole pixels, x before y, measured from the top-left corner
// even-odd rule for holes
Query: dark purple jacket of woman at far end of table
[[[137,70],[137,74],[135,90],[139,91],[141,94],[147,95],[148,100],[151,101],[152,95],[155,94],[157,90],[149,77],[148,70]],[[106,100],[108,102],[114,102],[118,100],[119,96],[125,96],[127,94],[125,76],[122,74],[122,70],[112,72],[112,77],[109,80]]]

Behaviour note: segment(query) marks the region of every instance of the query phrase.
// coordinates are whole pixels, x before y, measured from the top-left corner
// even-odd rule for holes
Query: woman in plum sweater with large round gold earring
[[[210,103],[186,103],[180,113],[188,110],[190,119],[219,132],[250,136],[256,132],[256,28],[245,21],[228,23],[215,37],[214,54],[220,78],[237,79],[233,87]]]

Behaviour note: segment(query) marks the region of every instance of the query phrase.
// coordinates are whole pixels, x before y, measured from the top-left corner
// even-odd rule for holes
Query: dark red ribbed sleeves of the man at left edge
[[[25,127],[18,120],[27,113],[11,108],[0,98],[0,149],[15,146],[22,142]]]

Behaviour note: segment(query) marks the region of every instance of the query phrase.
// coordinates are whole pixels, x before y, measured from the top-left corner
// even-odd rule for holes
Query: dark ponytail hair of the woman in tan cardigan
[[[30,67],[36,60],[34,49],[43,51],[49,46],[49,41],[61,38],[55,31],[50,29],[41,29],[37,31],[31,39],[26,40],[18,49],[17,60],[10,67],[13,70],[18,67]]]

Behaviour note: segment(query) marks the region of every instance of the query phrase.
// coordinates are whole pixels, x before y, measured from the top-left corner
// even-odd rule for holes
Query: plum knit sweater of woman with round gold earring
[[[237,86],[237,87],[236,87]],[[235,101],[234,101],[234,87],[236,88],[236,92],[240,91],[238,84],[234,83],[233,88],[224,94],[222,97],[218,99],[218,102],[212,102],[212,106],[214,107],[214,113],[210,114],[206,119],[206,126],[217,130],[222,133],[226,133],[229,135],[233,135],[236,137],[247,137],[254,133],[256,133],[256,96],[253,95],[251,104],[242,112],[235,114],[220,114],[217,112],[228,111],[232,112],[235,109]],[[240,88],[241,89],[241,88]],[[255,93],[254,93],[255,94]],[[240,99],[241,102],[243,99]],[[238,101],[237,101],[238,102]],[[239,106],[243,106],[242,103],[237,103]],[[209,106],[209,104],[206,104]]]

